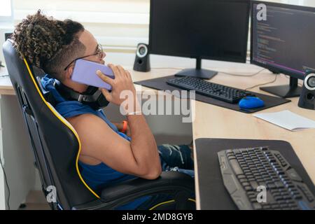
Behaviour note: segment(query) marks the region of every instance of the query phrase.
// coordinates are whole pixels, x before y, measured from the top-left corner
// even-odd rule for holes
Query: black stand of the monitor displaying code
[[[293,77],[290,77],[290,85],[260,87],[260,90],[282,98],[300,97],[302,92],[302,88],[297,85],[297,78]]]

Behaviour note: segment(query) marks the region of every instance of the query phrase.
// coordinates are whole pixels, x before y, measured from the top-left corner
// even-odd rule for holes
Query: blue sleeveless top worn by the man
[[[58,113],[60,113],[61,116],[64,118],[71,118],[73,116],[78,116],[85,113],[92,113],[95,116],[102,118],[102,120],[104,120],[104,122],[107,123],[107,125],[109,125],[109,127],[111,127],[114,132],[120,135],[120,137],[123,137],[128,141],[131,140],[126,134],[118,131],[117,127],[113,125],[108,118],[106,118],[102,109],[95,111],[90,106],[82,104],[78,101],[66,101],[66,99],[64,99],[62,95],[59,94],[59,92],[57,92],[55,89],[56,82],[59,81],[55,78],[51,78],[48,75],[45,75],[43,78],[41,78],[41,85],[43,89],[52,93],[52,96],[57,102],[55,109],[58,111]],[[101,162],[99,165],[87,165],[80,161],[78,163],[81,167],[80,174],[82,175],[85,183],[87,183],[90,188],[97,192],[99,192],[99,190],[104,188],[106,185],[137,178],[136,176],[123,174],[116,171],[115,169],[111,169],[111,167],[107,166],[103,162]],[[123,207],[119,207],[118,209],[136,209],[140,204],[149,198],[151,197],[141,197],[137,200],[134,200],[134,202],[126,204]]]

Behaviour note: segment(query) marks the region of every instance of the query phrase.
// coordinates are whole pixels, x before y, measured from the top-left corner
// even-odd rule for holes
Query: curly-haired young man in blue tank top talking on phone
[[[94,36],[83,25],[71,20],[59,21],[47,18],[40,10],[29,15],[16,26],[13,34],[15,48],[21,57],[28,59],[45,71],[41,83],[51,90],[57,100],[57,111],[76,129],[82,144],[80,167],[85,182],[94,190],[109,183],[118,183],[137,177],[156,179],[162,171],[177,170],[193,176],[191,148],[186,145],[157,146],[143,115],[137,113],[136,91],[129,71],[122,66],[108,64],[115,79],[97,71],[112,91],[102,90],[107,101],[120,106],[120,92],[128,90],[134,96],[134,109],[127,113],[130,137],[120,132],[122,125],[113,125],[103,111],[94,110],[86,104],[69,101],[58,92],[64,85],[78,93],[88,86],[71,80],[76,59],[85,59],[104,64],[104,53]],[[148,198],[128,204],[135,209]]]

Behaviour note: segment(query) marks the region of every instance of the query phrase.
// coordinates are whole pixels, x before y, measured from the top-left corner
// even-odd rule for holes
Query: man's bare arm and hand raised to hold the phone
[[[113,104],[123,105],[125,99],[120,99],[120,93],[123,90],[130,90],[132,97],[136,100],[136,90],[130,73],[121,66],[109,64],[109,67],[113,70],[115,79],[97,71],[99,77],[112,86],[111,92],[102,89],[106,99]],[[129,114],[127,116],[131,141],[127,141],[114,132],[98,116],[83,114],[68,118],[68,120],[80,137],[81,162],[89,165],[104,162],[118,172],[144,179],[156,179],[160,176],[162,167],[158,146],[143,115]]]

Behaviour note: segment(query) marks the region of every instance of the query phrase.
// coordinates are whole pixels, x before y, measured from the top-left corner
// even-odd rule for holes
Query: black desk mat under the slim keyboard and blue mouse
[[[138,84],[138,85],[144,85],[146,87],[151,87],[155,90],[170,90],[170,91],[181,90],[178,87],[174,87],[174,86],[168,85],[166,83],[166,81],[170,78],[178,78],[178,77],[165,76],[162,78],[153,78],[153,79],[143,80],[143,81],[134,82],[134,83]],[[248,92],[251,92],[251,91],[248,91]],[[256,92],[252,92],[252,93],[255,94],[257,97],[259,97],[260,99],[262,99],[265,102],[265,106],[262,106],[262,107],[256,108],[256,109],[243,110],[243,109],[239,108],[239,104],[230,104],[228,102],[223,102],[221,100],[214,99],[211,97],[206,97],[202,94],[197,94],[197,93],[196,93],[195,97],[196,97],[197,101],[204,102],[207,104],[213,104],[216,106],[221,106],[221,107],[224,107],[226,109],[231,109],[231,110],[239,111],[242,113],[255,113],[257,111],[262,111],[262,110],[271,108],[273,106],[278,106],[278,105],[286,104],[286,103],[290,102],[290,99],[283,99],[280,97],[272,97],[272,96],[268,96],[268,95],[260,94],[260,93],[256,93]],[[181,97],[181,95],[179,95],[177,97]],[[189,98],[189,97],[186,97],[186,98]]]

